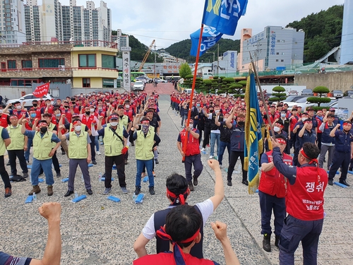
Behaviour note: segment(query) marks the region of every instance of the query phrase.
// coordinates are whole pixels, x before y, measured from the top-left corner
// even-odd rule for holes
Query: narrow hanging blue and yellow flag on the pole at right
[[[245,92],[246,119],[245,119],[245,148],[244,170],[248,171],[249,194],[253,194],[258,188],[260,175],[258,172],[259,158],[263,151],[263,139],[261,135],[261,117],[258,107],[258,93],[255,86],[255,77],[250,73],[246,83]]]

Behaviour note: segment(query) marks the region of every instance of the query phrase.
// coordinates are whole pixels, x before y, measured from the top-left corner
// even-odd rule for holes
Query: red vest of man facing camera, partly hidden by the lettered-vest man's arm
[[[268,151],[266,155],[268,156],[268,163],[272,162],[272,151]],[[283,153],[283,162],[287,165],[293,165],[292,156]],[[277,196],[277,198],[284,198],[287,192],[285,177],[280,174],[276,167],[268,172],[262,171],[258,190],[271,196]]]

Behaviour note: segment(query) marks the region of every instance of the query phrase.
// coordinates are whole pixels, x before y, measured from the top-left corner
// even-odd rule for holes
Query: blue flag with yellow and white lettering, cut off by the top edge
[[[234,35],[247,4],[248,0],[205,0],[202,23],[220,33]]]

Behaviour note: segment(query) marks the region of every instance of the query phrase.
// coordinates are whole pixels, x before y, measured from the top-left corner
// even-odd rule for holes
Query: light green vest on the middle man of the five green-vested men
[[[85,131],[81,131],[79,136],[76,134],[75,131],[70,131],[68,138],[68,158],[88,158],[87,136],[88,133]]]

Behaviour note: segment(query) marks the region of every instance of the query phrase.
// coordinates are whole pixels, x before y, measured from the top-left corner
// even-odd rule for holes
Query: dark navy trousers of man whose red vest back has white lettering
[[[303,247],[303,264],[316,265],[321,230],[323,219],[299,220],[288,215],[280,235],[280,265],[294,265],[294,252],[299,242]]]

